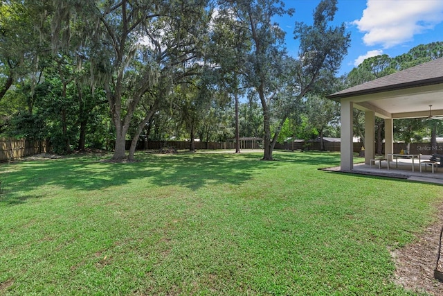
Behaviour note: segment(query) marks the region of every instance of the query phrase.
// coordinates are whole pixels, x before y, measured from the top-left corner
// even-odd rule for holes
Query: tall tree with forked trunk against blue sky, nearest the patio
[[[264,160],[272,160],[273,147],[287,117],[318,80],[332,78],[350,44],[345,25],[329,26],[334,19],[336,0],[320,1],[312,25],[296,23],[295,37],[300,40],[297,58],[287,57],[284,31],[273,22],[276,16],[293,13],[280,0],[221,1],[221,8],[232,13],[248,34],[252,44],[243,70],[246,83],[262,105]],[[228,13],[226,12],[226,13]],[[288,71],[288,70],[291,71]],[[271,134],[272,121],[279,124]]]

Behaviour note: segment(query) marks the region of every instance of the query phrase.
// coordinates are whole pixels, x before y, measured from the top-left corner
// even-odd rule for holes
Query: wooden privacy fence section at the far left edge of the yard
[[[27,139],[0,139],[0,162],[46,153],[46,141]]]

